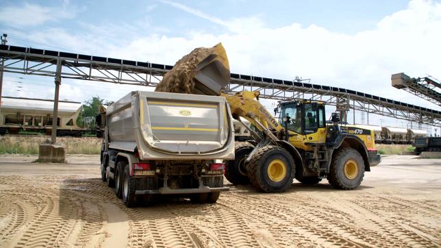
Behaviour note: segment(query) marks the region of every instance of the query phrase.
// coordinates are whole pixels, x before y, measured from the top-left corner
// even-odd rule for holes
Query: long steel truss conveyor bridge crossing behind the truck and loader
[[[164,64],[136,62],[92,55],[0,45],[0,70],[9,73],[55,77],[60,61],[61,78],[155,87],[173,68]],[[259,90],[260,97],[275,100],[305,98],[326,101],[338,110],[359,110],[396,119],[441,127],[441,111],[369,95],[346,88],[231,73],[226,92]]]

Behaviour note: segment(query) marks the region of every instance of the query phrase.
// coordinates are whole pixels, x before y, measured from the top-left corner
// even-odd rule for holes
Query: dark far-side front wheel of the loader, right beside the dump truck
[[[229,160],[225,164],[225,177],[231,184],[249,184],[245,160],[254,146],[249,142],[236,142],[234,149],[234,160]]]

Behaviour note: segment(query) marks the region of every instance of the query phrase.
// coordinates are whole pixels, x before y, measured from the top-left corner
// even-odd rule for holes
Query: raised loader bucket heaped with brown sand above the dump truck
[[[229,83],[229,62],[222,44],[199,47],[176,62],[155,91],[219,95]]]

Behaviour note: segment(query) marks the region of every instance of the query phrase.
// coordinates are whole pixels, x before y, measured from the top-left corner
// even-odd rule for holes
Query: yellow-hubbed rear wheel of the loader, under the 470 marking
[[[336,154],[331,162],[327,179],[334,188],[352,190],[357,188],[364,177],[364,161],[353,148],[345,148]]]

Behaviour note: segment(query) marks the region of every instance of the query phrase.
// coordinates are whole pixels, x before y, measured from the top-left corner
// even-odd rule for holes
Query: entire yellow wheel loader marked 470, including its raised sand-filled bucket
[[[185,55],[155,90],[223,96],[234,119],[247,119],[258,130],[244,125],[253,140],[236,142],[235,160],[225,161],[229,182],[251,182],[259,190],[273,193],[286,190],[294,177],[302,184],[317,184],[326,177],[336,188],[353,189],[370,166],[379,164],[374,132],[339,125],[338,114],[332,114],[328,123],[325,102],[281,101],[276,120],[258,101],[260,92],[223,92],[217,82],[229,82],[229,76],[227,54],[219,43]]]

